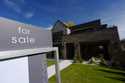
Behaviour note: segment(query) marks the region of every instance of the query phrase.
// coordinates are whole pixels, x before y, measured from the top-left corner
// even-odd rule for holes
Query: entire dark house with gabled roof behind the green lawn
[[[53,46],[59,47],[60,58],[73,59],[80,56],[89,60],[93,56],[103,56],[114,60],[120,50],[119,34],[116,26],[108,27],[100,20],[67,27],[57,21],[52,29]]]

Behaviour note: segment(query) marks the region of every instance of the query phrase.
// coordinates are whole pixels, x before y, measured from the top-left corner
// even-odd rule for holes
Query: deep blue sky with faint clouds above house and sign
[[[44,28],[57,20],[81,24],[101,19],[118,26],[125,39],[125,0],[1,0],[0,16]]]

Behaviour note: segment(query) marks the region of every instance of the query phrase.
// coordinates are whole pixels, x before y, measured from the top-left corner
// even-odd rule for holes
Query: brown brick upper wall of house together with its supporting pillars
[[[93,31],[93,32],[83,32],[83,33],[79,33],[79,34],[72,34],[72,35],[67,35],[64,36],[63,38],[63,42],[65,45],[66,43],[74,43],[75,46],[75,55],[79,55],[80,56],[80,52],[78,48],[80,48],[79,43],[80,42],[105,42],[105,41],[109,41],[108,44],[108,49],[109,49],[109,54],[110,57],[114,58],[116,56],[116,54],[119,53],[120,47],[119,47],[119,35],[117,32],[117,28],[113,27],[113,28],[107,28],[107,29],[103,29],[100,31]],[[116,48],[114,48],[114,47]],[[116,51],[114,51],[116,50]],[[64,49],[64,52],[66,52],[66,49]],[[117,52],[117,53],[116,53]],[[66,57],[66,53],[64,55]]]

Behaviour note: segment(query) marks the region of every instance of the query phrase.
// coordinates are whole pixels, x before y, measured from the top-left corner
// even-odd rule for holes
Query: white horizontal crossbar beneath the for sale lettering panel
[[[10,51],[1,51],[0,60],[16,58],[21,56],[28,56],[31,54],[45,53],[50,51],[56,51],[56,47],[45,47],[45,48],[35,48],[35,49],[23,49],[23,50],[10,50]]]

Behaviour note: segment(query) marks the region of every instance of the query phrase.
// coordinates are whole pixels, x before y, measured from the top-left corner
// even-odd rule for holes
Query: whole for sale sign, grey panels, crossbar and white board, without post
[[[51,40],[49,30],[0,18],[0,83],[48,83]]]

